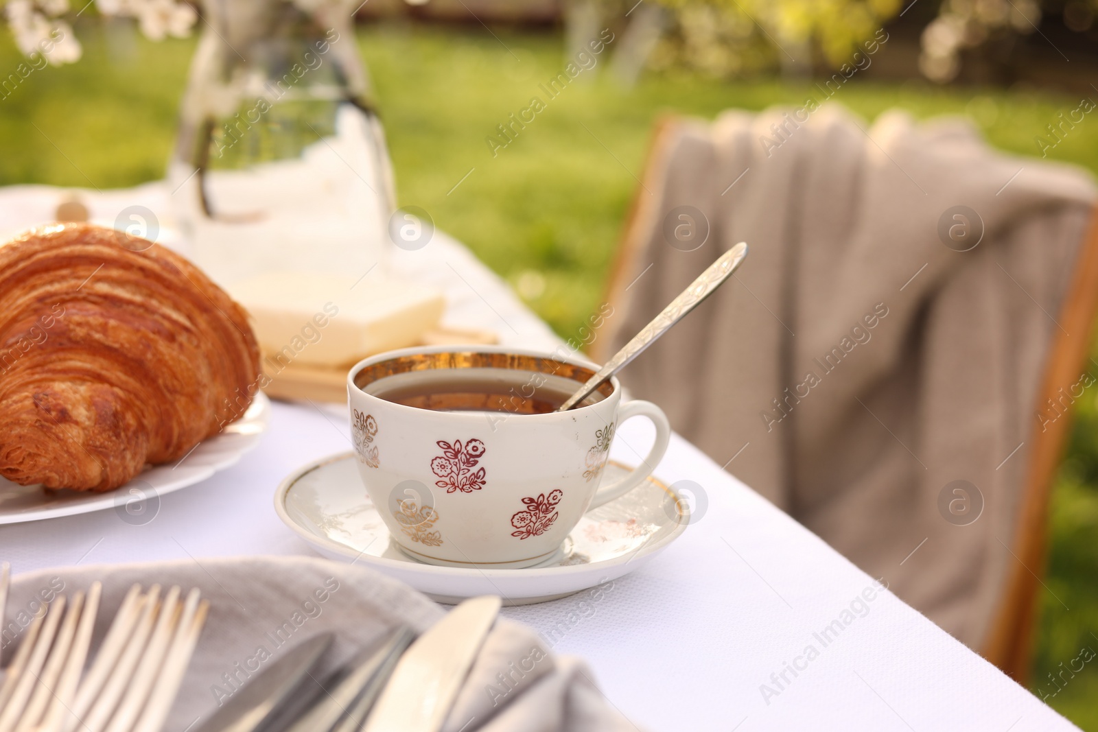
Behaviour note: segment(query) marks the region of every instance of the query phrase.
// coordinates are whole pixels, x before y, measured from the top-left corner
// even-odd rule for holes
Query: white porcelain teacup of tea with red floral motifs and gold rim
[[[488,346],[356,364],[347,391],[359,473],[400,549],[445,566],[548,563],[586,511],[640,485],[671,435],[658,406],[623,404],[610,379],[580,406],[551,410],[595,370]],[[614,433],[636,416],[654,423],[656,441],[638,468],[601,486]]]

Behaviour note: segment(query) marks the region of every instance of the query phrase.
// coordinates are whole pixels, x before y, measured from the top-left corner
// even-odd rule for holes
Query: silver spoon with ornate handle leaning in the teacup
[[[732,275],[732,272],[743,262],[748,256],[748,245],[740,241],[735,247],[722,254],[717,261],[702,272],[702,274],[691,282],[690,286],[683,290],[671,304],[663,308],[663,312],[652,318],[652,322],[641,328],[640,333],[632,337],[625,347],[614,354],[602,369],[595,372],[591,379],[580,387],[580,390],[568,397],[564,404],[560,405],[557,412],[568,412],[576,404],[587,398],[604,381],[618,372],[621,367],[637,358],[641,351],[652,345],[657,338],[665,334],[671,327],[683,319],[683,317],[698,304],[713,294],[713,292],[724,284],[725,280]]]

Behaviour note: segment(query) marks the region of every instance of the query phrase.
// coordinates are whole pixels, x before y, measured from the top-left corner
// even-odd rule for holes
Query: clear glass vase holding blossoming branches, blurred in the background
[[[210,0],[169,164],[176,219],[215,281],[358,277],[394,207],[384,134],[333,0]]]

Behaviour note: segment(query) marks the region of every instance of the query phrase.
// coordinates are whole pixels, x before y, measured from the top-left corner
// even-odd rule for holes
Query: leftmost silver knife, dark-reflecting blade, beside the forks
[[[332,645],[330,632],[320,633],[293,646],[266,671],[236,691],[225,706],[194,732],[254,732],[293,701],[310,672]]]

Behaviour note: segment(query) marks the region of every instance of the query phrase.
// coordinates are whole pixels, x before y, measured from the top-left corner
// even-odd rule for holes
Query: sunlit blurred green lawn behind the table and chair
[[[110,43],[82,24],[85,59],[35,71],[0,100],[0,184],[41,182],[99,188],[164,174],[192,41]],[[564,64],[559,34],[406,25],[367,29],[359,41],[377,85],[402,204],[425,209],[513,283],[564,337],[597,309],[607,268],[637,188],[654,120],[675,112],[712,117],[738,106],[800,104],[809,85],[726,83],[693,76],[648,77],[632,90],[596,74],[548,101],[538,85]],[[605,65],[600,59],[600,70]],[[0,75],[19,63],[0,40]],[[531,97],[548,102],[515,142],[493,156],[485,137]],[[917,117],[971,113],[1007,150],[1038,151],[1034,136],[1074,97],[939,89],[918,82],[855,81],[837,99],[866,117],[903,106]],[[1098,171],[1098,135],[1087,125],[1050,157]],[[1098,127],[1096,127],[1098,129]],[[463,182],[458,182],[469,173]],[[455,188],[457,185],[457,188]],[[524,277],[525,273],[525,277]],[[537,273],[531,275],[530,273]],[[1098,367],[1096,367],[1098,373]],[[1033,684],[1083,646],[1098,651],[1098,407],[1079,405],[1073,443],[1053,496],[1050,564],[1041,598]],[[1058,598],[1058,599],[1056,599]],[[1061,604],[1063,601],[1063,605]],[[1065,610],[1065,607],[1071,610]],[[1098,731],[1098,660],[1050,703]]]

